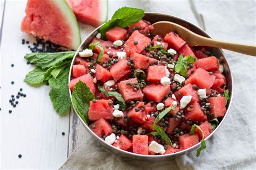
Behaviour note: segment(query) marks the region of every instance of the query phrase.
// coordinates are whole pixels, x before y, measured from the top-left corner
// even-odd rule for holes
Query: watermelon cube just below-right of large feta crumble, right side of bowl
[[[207,121],[207,116],[204,114],[203,110],[201,110],[201,106],[198,102],[194,102],[193,109],[191,111],[188,111],[185,109],[185,119],[187,121],[193,121],[193,122],[204,122]]]

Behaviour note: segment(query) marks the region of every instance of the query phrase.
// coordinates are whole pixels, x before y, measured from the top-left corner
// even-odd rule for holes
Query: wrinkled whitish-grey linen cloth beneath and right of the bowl
[[[255,45],[256,13],[253,0],[142,2],[145,11],[166,13],[205,26],[213,38]],[[198,13],[191,8],[193,5]],[[203,20],[198,17],[200,14]],[[196,151],[192,151],[176,160],[164,162],[124,160],[107,152],[90,137],[60,169],[255,169],[256,58],[224,52],[233,73],[233,103],[224,124],[207,140],[206,150],[201,152],[200,157],[197,158]]]

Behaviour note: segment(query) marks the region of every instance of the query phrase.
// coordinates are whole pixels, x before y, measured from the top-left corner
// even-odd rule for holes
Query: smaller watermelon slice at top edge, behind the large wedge
[[[107,19],[107,0],[66,0],[66,2],[81,23],[98,27]]]

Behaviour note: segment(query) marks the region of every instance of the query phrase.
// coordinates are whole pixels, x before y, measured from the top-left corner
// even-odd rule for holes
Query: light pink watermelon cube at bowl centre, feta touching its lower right
[[[166,76],[165,66],[149,66],[147,68],[147,81],[158,82]]]

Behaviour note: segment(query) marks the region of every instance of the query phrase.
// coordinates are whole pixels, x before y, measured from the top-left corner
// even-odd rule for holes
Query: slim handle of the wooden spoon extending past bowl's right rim
[[[198,38],[197,44],[194,46],[224,48],[230,51],[256,56],[256,46],[213,40],[211,38],[206,38],[203,36],[199,37],[200,38]]]

